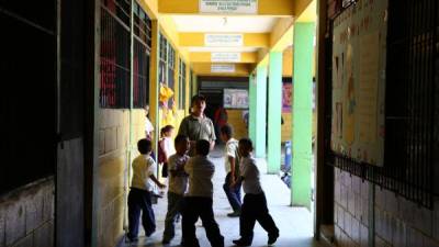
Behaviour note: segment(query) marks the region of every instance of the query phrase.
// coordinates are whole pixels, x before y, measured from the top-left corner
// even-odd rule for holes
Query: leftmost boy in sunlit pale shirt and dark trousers
[[[140,211],[145,235],[149,237],[156,231],[150,193],[154,187],[151,181],[159,188],[165,188],[154,176],[156,162],[150,157],[151,142],[146,138],[138,141],[137,149],[140,155],[133,160],[133,180],[128,193],[128,233],[126,237],[130,242],[137,240]]]

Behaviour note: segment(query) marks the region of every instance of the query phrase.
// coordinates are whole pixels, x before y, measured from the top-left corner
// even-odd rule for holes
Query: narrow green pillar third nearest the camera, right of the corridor
[[[258,66],[256,69],[256,133],[255,155],[258,158],[266,157],[267,133],[267,66]]]

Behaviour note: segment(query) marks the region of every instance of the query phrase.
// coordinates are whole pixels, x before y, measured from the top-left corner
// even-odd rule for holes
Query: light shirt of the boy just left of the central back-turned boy
[[[184,170],[182,170],[182,166],[184,166],[184,164],[188,162],[189,160],[189,156],[188,155],[183,155],[180,156],[179,154],[175,154],[171,155],[168,159],[168,171],[169,171],[169,176],[168,176],[168,186],[169,189],[168,191],[176,193],[176,194],[181,194],[183,195],[188,189],[188,181],[189,181],[189,177],[188,175],[184,172]],[[172,176],[172,172],[170,172],[171,170],[177,171],[176,176]]]

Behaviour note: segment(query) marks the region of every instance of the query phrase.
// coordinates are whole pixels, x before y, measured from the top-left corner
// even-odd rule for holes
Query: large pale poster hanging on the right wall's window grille
[[[334,21],[331,149],[383,166],[389,0],[360,0]]]

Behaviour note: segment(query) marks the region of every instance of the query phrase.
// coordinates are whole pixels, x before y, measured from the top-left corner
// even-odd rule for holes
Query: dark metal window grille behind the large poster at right
[[[434,181],[439,142],[438,7],[436,0],[390,0],[384,166],[356,162],[331,153],[328,142],[326,145],[328,165],[428,209],[432,209],[434,195],[438,194]],[[330,65],[330,59],[327,61]],[[327,92],[330,101],[330,88]],[[327,123],[330,126],[329,115]]]

